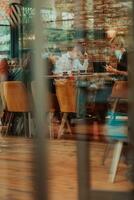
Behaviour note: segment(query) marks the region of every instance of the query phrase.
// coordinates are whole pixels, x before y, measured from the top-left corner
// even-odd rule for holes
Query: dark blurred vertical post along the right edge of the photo
[[[128,169],[129,179],[134,183],[134,1],[132,1],[132,10],[130,17],[132,18],[132,27],[129,28],[129,38],[128,38],[128,77],[129,77],[129,117],[128,117],[128,137],[129,137],[129,154],[128,163],[130,167]],[[134,191],[134,189],[133,189]],[[133,194],[132,194],[133,196]]]

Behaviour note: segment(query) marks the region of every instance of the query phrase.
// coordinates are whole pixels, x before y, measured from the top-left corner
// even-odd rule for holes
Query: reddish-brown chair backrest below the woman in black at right
[[[112,89],[111,97],[128,99],[128,81],[116,81]]]

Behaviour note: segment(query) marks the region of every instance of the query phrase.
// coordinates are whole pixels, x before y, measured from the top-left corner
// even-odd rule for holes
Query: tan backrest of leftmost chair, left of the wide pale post
[[[21,81],[3,82],[3,94],[9,112],[29,112],[30,102],[25,85]]]

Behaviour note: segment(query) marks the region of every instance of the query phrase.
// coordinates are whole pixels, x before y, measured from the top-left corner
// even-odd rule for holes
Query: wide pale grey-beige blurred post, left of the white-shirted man
[[[35,78],[35,162],[36,162],[36,200],[47,200],[48,199],[48,185],[47,185],[47,174],[48,174],[48,153],[47,153],[47,124],[45,119],[45,110],[47,107],[46,97],[46,86],[47,83],[43,77],[46,67],[43,66],[43,60],[41,58],[41,51],[43,47],[42,40],[42,22],[40,10],[43,5],[42,0],[34,0],[33,8],[35,8],[34,16],[34,78]],[[46,44],[45,44],[46,45]]]

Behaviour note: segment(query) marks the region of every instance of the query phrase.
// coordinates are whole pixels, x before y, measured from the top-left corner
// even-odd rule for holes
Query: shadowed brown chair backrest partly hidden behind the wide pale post
[[[32,96],[33,96],[33,101],[35,102],[36,98],[36,82],[32,81],[31,82],[31,90],[32,90]],[[55,94],[50,93],[47,91],[47,101],[44,99],[44,103],[48,103],[48,109],[47,112],[55,112],[58,109],[58,101],[57,97]]]

